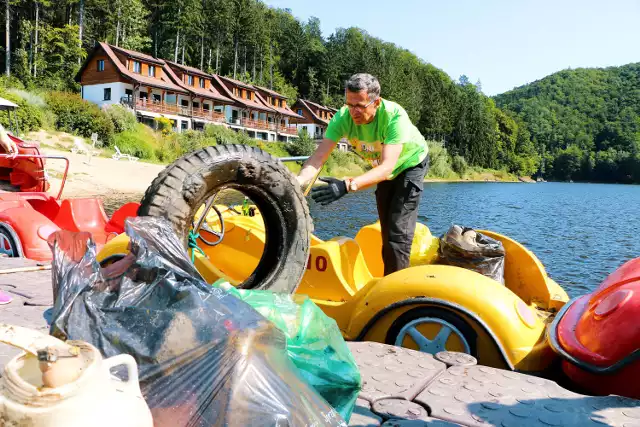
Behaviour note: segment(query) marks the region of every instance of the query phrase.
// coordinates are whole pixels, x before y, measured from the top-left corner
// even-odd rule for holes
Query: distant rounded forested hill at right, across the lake
[[[545,177],[640,182],[640,63],[564,70],[494,99],[526,123]]]

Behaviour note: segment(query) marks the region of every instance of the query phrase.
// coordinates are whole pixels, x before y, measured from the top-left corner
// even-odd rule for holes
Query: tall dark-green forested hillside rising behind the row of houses
[[[434,141],[433,175],[451,167],[462,174],[467,165],[537,170],[526,129],[477,84],[453,80],[438,64],[360,29],[322,34],[318,19],[302,21],[295,12],[259,0],[7,0],[0,14],[10,44],[0,60],[11,78],[4,87],[78,93],[73,78],[97,41],[271,87],[291,102],[304,97],[333,107],[344,102],[351,74],[369,72],[382,96],[400,103]]]

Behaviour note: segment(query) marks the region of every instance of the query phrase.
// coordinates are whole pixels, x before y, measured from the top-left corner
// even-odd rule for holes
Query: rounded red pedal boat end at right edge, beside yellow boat
[[[574,383],[596,395],[640,399],[640,258],[569,301],[548,338]]]

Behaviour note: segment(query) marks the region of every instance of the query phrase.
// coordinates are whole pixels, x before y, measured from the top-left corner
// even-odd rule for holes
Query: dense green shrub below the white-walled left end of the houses
[[[46,101],[56,115],[59,130],[86,138],[95,132],[101,141],[113,141],[113,122],[96,104],[69,92],[51,92],[47,94]]]

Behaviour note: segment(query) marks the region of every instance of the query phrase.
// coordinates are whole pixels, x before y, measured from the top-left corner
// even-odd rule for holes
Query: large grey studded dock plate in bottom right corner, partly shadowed
[[[486,366],[454,366],[415,399],[466,426],[640,426],[640,401],[590,397],[553,381]]]

